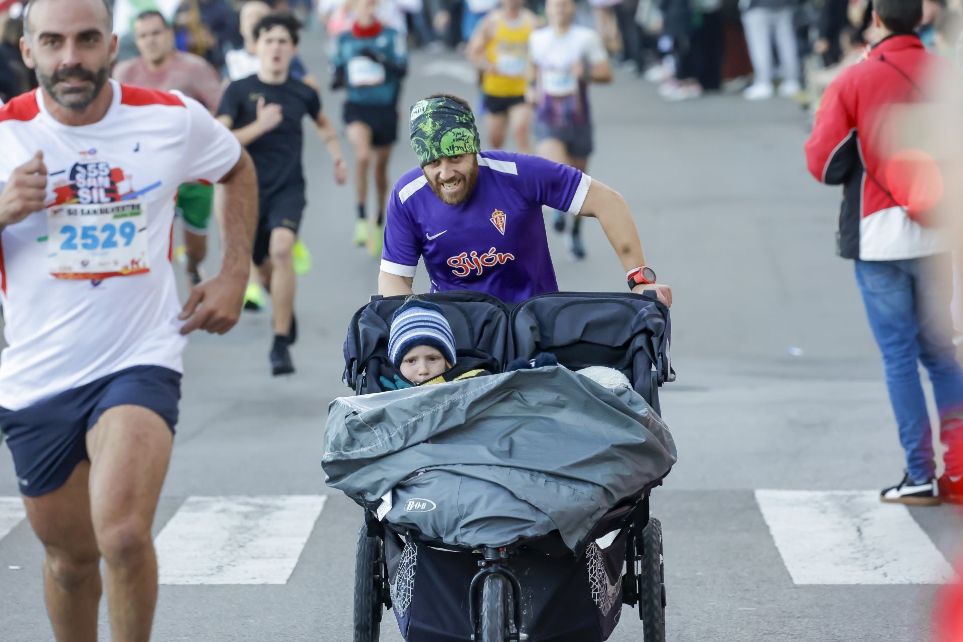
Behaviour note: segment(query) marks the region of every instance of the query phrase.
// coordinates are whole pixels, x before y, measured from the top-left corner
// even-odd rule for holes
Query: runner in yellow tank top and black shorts
[[[488,146],[501,149],[511,130],[518,151],[531,154],[532,107],[525,102],[529,36],[538,17],[524,0],[502,0],[502,8],[486,15],[468,43],[468,59],[482,72]]]

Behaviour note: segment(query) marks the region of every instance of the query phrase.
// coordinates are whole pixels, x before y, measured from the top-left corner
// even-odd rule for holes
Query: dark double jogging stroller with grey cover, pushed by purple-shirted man
[[[662,642],[662,533],[649,494],[675,461],[653,412],[657,387],[671,380],[664,306],[628,294],[559,293],[515,306],[470,292],[427,298],[444,311],[455,346],[483,350],[501,374],[371,395],[399,370],[389,335],[398,308],[411,302],[376,299],[352,319],[345,380],[359,396],[332,403],[323,465],[328,485],[365,508],[355,642],[378,639],[385,608],[408,642],[600,642],[622,603],[638,607],[646,642]],[[546,352],[564,368],[539,368]],[[508,372],[516,359],[534,360],[537,372]],[[624,373],[649,406],[624,381],[605,392],[572,372],[587,366]],[[635,419],[615,429],[623,402]],[[596,429],[575,429],[584,425]],[[571,436],[545,441],[560,430]],[[638,472],[622,469],[628,461]],[[632,488],[613,489],[615,503],[543,496],[576,484],[593,492],[616,477]],[[379,510],[386,491],[387,512]],[[572,526],[580,534],[564,539]]]

